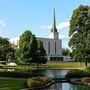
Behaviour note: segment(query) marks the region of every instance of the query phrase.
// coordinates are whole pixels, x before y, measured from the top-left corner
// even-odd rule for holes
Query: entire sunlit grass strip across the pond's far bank
[[[90,66],[90,64],[88,64]],[[4,65],[4,68],[16,69],[16,70],[30,70],[36,69],[36,65],[32,64],[29,67],[27,65],[18,65],[18,66],[7,66]],[[83,62],[47,62],[46,64],[40,65],[41,69],[84,69],[85,64]]]

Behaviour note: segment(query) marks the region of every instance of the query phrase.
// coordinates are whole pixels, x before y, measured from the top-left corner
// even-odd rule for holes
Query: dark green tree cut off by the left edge
[[[14,61],[15,49],[11,46],[11,43],[7,38],[0,37],[0,61]]]

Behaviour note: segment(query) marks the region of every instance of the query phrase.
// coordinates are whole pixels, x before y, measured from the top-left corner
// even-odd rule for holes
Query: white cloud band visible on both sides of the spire
[[[69,23],[69,21],[62,22],[62,23],[57,24],[56,26],[57,26],[57,29],[58,30],[63,30],[63,29],[69,28],[70,23]],[[50,25],[50,26],[42,25],[40,28],[41,29],[51,29],[52,28],[52,25]]]

